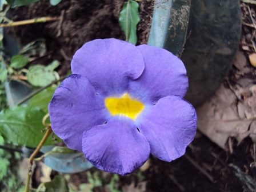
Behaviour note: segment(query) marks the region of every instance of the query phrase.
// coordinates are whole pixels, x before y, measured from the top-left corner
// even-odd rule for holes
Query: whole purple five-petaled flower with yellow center
[[[117,39],[85,43],[72,75],[49,105],[52,129],[98,169],[122,175],[147,161],[181,157],[193,140],[197,115],[182,97],[182,61],[169,51]]]

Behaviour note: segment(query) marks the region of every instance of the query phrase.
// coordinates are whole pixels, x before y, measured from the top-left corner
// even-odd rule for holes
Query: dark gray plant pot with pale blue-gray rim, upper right
[[[181,57],[189,77],[185,99],[198,106],[227,75],[240,36],[238,0],[155,0],[148,44]]]

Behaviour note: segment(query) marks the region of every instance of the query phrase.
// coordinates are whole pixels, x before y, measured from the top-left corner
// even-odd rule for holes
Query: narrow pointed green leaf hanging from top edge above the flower
[[[119,25],[125,31],[126,41],[136,45],[137,43],[137,24],[139,22],[139,4],[135,1],[128,0],[123,5],[123,10],[120,12]]]

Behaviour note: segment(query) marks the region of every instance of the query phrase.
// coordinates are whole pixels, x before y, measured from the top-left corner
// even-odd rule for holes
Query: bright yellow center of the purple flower
[[[111,115],[125,115],[131,119],[135,119],[144,108],[141,102],[131,99],[127,93],[121,98],[106,98],[105,103]]]

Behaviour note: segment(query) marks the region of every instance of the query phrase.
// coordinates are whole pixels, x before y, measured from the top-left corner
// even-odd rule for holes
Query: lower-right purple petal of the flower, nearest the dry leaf
[[[178,96],[159,99],[147,106],[135,123],[150,143],[151,153],[163,161],[181,157],[197,129],[194,107]]]

